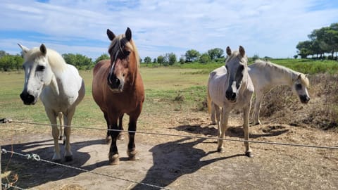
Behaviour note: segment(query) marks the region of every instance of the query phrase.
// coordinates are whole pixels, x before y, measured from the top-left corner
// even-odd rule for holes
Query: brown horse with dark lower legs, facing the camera
[[[123,130],[123,115],[129,115],[129,142],[127,154],[130,160],[136,160],[135,132],[137,118],[144,102],[144,86],[139,74],[139,54],[132,40],[132,31],[128,27],[125,34],[115,36],[107,30],[111,45],[108,53],[111,60],[99,61],[93,71],[92,94],[94,101],[104,112],[108,129],[107,139],[111,137],[109,164],[118,164],[120,158],[116,140]]]

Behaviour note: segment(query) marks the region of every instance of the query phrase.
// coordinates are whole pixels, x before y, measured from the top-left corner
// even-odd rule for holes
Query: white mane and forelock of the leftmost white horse
[[[36,58],[42,57],[42,52],[39,48],[35,47],[30,49],[25,53],[25,60],[35,60]],[[47,54],[49,65],[51,65],[52,70],[65,70],[67,65],[65,60],[60,55],[60,53],[54,51],[53,49],[47,49]]]

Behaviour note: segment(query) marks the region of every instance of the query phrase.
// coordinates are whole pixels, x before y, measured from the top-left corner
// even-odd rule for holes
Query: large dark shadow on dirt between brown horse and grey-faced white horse
[[[161,189],[159,187],[144,186],[142,183],[165,187],[175,182],[182,175],[194,173],[201,169],[201,167],[211,163],[237,156],[245,156],[244,154],[236,154],[201,160],[212,153],[218,153],[217,151],[206,152],[194,147],[197,144],[203,143],[204,140],[184,137],[177,141],[158,144],[151,148],[149,151],[152,153],[154,165],[149,168],[142,182],[132,189]]]

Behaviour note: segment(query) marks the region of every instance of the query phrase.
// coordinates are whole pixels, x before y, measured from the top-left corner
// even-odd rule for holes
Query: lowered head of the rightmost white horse
[[[308,103],[310,101],[310,96],[308,95],[308,77],[304,74],[299,74],[292,84],[292,89],[298,94],[301,103]]]

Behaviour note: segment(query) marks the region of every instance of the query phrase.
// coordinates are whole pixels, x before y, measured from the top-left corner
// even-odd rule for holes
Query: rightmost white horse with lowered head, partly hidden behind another
[[[256,102],[253,109],[253,125],[260,125],[259,110],[263,97],[271,89],[281,85],[287,85],[298,94],[301,103],[308,103],[310,96],[308,95],[309,86],[308,77],[301,72],[276,65],[269,61],[258,60],[249,65],[249,75],[255,87]]]

